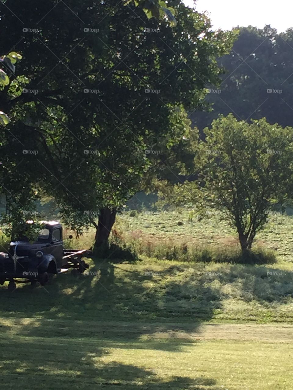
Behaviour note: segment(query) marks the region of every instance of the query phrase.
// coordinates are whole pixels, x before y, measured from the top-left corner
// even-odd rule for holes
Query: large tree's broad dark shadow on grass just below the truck
[[[117,343],[121,340],[133,343],[143,338],[147,349],[180,351],[184,343],[194,341],[188,333],[195,332],[202,321],[213,316],[209,301],[204,308],[199,301],[189,307],[182,308],[181,304],[175,307],[180,289],[176,281],[152,288],[149,285],[152,279],[144,271],[124,272],[107,262],[99,267],[101,262],[97,261],[90,269],[97,276],[58,275],[45,287],[31,289],[25,285],[13,293],[2,289],[2,317],[13,319],[11,331],[18,327],[19,334],[29,337],[68,337],[74,321],[72,328],[79,337],[111,339]],[[199,279],[196,288],[201,285]],[[205,291],[216,299],[212,289],[205,287]],[[192,316],[188,329],[180,324],[182,316],[185,319]],[[25,323],[23,318],[33,321]]]

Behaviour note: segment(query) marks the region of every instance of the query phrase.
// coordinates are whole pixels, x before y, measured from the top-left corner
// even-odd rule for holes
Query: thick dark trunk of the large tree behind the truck
[[[100,210],[98,226],[95,235],[95,250],[101,247],[106,248],[106,246],[108,246],[108,239],[115,222],[116,213],[116,209],[111,210],[105,208]]]

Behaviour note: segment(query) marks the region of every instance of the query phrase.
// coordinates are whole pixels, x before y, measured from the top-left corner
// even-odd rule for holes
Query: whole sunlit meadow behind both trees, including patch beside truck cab
[[[235,229],[215,211],[198,221],[190,209],[175,211],[126,211],[116,217],[111,241],[130,251],[161,260],[229,262],[239,254]],[[191,219],[191,221],[190,221]],[[293,262],[293,216],[271,215],[257,234],[252,251],[259,264]],[[70,232],[65,232],[65,236]],[[65,240],[68,247],[89,248],[94,229],[79,239]],[[114,255],[115,257],[115,255]],[[257,259],[256,257],[256,259]]]

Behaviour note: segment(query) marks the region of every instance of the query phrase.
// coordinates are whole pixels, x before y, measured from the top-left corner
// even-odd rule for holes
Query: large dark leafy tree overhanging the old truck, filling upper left
[[[234,34],[213,32],[205,15],[178,0],[168,6],[173,28],[114,0],[1,2],[3,50],[17,46],[27,76],[12,97],[0,96],[13,119],[2,135],[11,166],[54,195],[73,228],[93,223],[99,245],[141,185],[144,151],[178,140],[174,118],[219,82],[216,58],[232,44]],[[38,154],[15,153],[21,144]],[[14,191],[9,176],[3,184]]]

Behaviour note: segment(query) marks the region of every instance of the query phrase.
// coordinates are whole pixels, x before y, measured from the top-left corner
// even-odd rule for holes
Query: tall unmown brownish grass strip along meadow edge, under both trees
[[[174,228],[172,234],[147,232],[135,229],[130,225],[128,216],[132,216],[135,222],[141,215],[132,211],[118,218],[110,234],[109,246],[102,248],[100,257],[113,259],[134,259],[139,255],[146,255],[158,260],[175,260],[183,262],[219,262],[231,264],[273,264],[276,262],[275,252],[263,246],[256,245],[252,251],[243,255],[237,239],[225,239],[221,242],[202,243],[198,239],[182,238],[182,235]],[[177,216],[168,213],[177,225]],[[178,226],[178,225],[177,225]],[[133,230],[132,230],[133,229]],[[168,230],[168,229],[166,229]],[[64,237],[69,236],[70,231],[64,229]],[[94,243],[95,230],[89,229],[79,238],[65,239],[66,248],[91,248]]]

